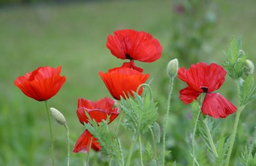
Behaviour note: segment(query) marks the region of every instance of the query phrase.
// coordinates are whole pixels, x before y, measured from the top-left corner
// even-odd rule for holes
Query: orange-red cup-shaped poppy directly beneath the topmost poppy
[[[118,68],[112,68],[107,73],[99,72],[101,79],[108,88],[109,93],[116,100],[120,100],[120,96],[129,98],[129,94],[132,96],[132,91],[136,91],[140,84],[146,82],[149,74],[143,74],[138,70],[133,70],[129,67],[121,66]],[[141,88],[139,94],[143,89]]]

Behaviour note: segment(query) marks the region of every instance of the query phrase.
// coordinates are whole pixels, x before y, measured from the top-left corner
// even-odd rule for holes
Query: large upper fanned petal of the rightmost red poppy
[[[212,92],[223,84],[226,73],[218,64],[196,63],[192,64],[188,70],[184,67],[180,68],[178,77],[198,92],[202,92],[201,87],[207,87],[207,92]]]

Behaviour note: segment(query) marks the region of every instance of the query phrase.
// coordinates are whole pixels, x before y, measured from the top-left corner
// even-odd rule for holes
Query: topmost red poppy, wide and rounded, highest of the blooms
[[[113,56],[120,59],[131,59],[153,62],[161,57],[163,47],[151,34],[143,31],[123,29],[108,36],[107,47]]]

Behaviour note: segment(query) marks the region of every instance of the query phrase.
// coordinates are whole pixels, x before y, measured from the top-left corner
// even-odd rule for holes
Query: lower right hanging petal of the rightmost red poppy
[[[201,110],[204,115],[223,118],[236,112],[237,108],[218,93],[206,93]]]

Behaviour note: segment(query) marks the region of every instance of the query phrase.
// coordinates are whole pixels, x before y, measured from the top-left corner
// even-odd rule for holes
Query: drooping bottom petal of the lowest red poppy
[[[88,130],[85,130],[80,137],[77,139],[76,145],[74,146],[73,153],[88,153],[89,147],[90,147],[90,141],[92,139],[92,134],[88,132]],[[100,150],[100,144],[97,142],[97,139],[93,137],[92,139],[92,149],[95,151]]]

